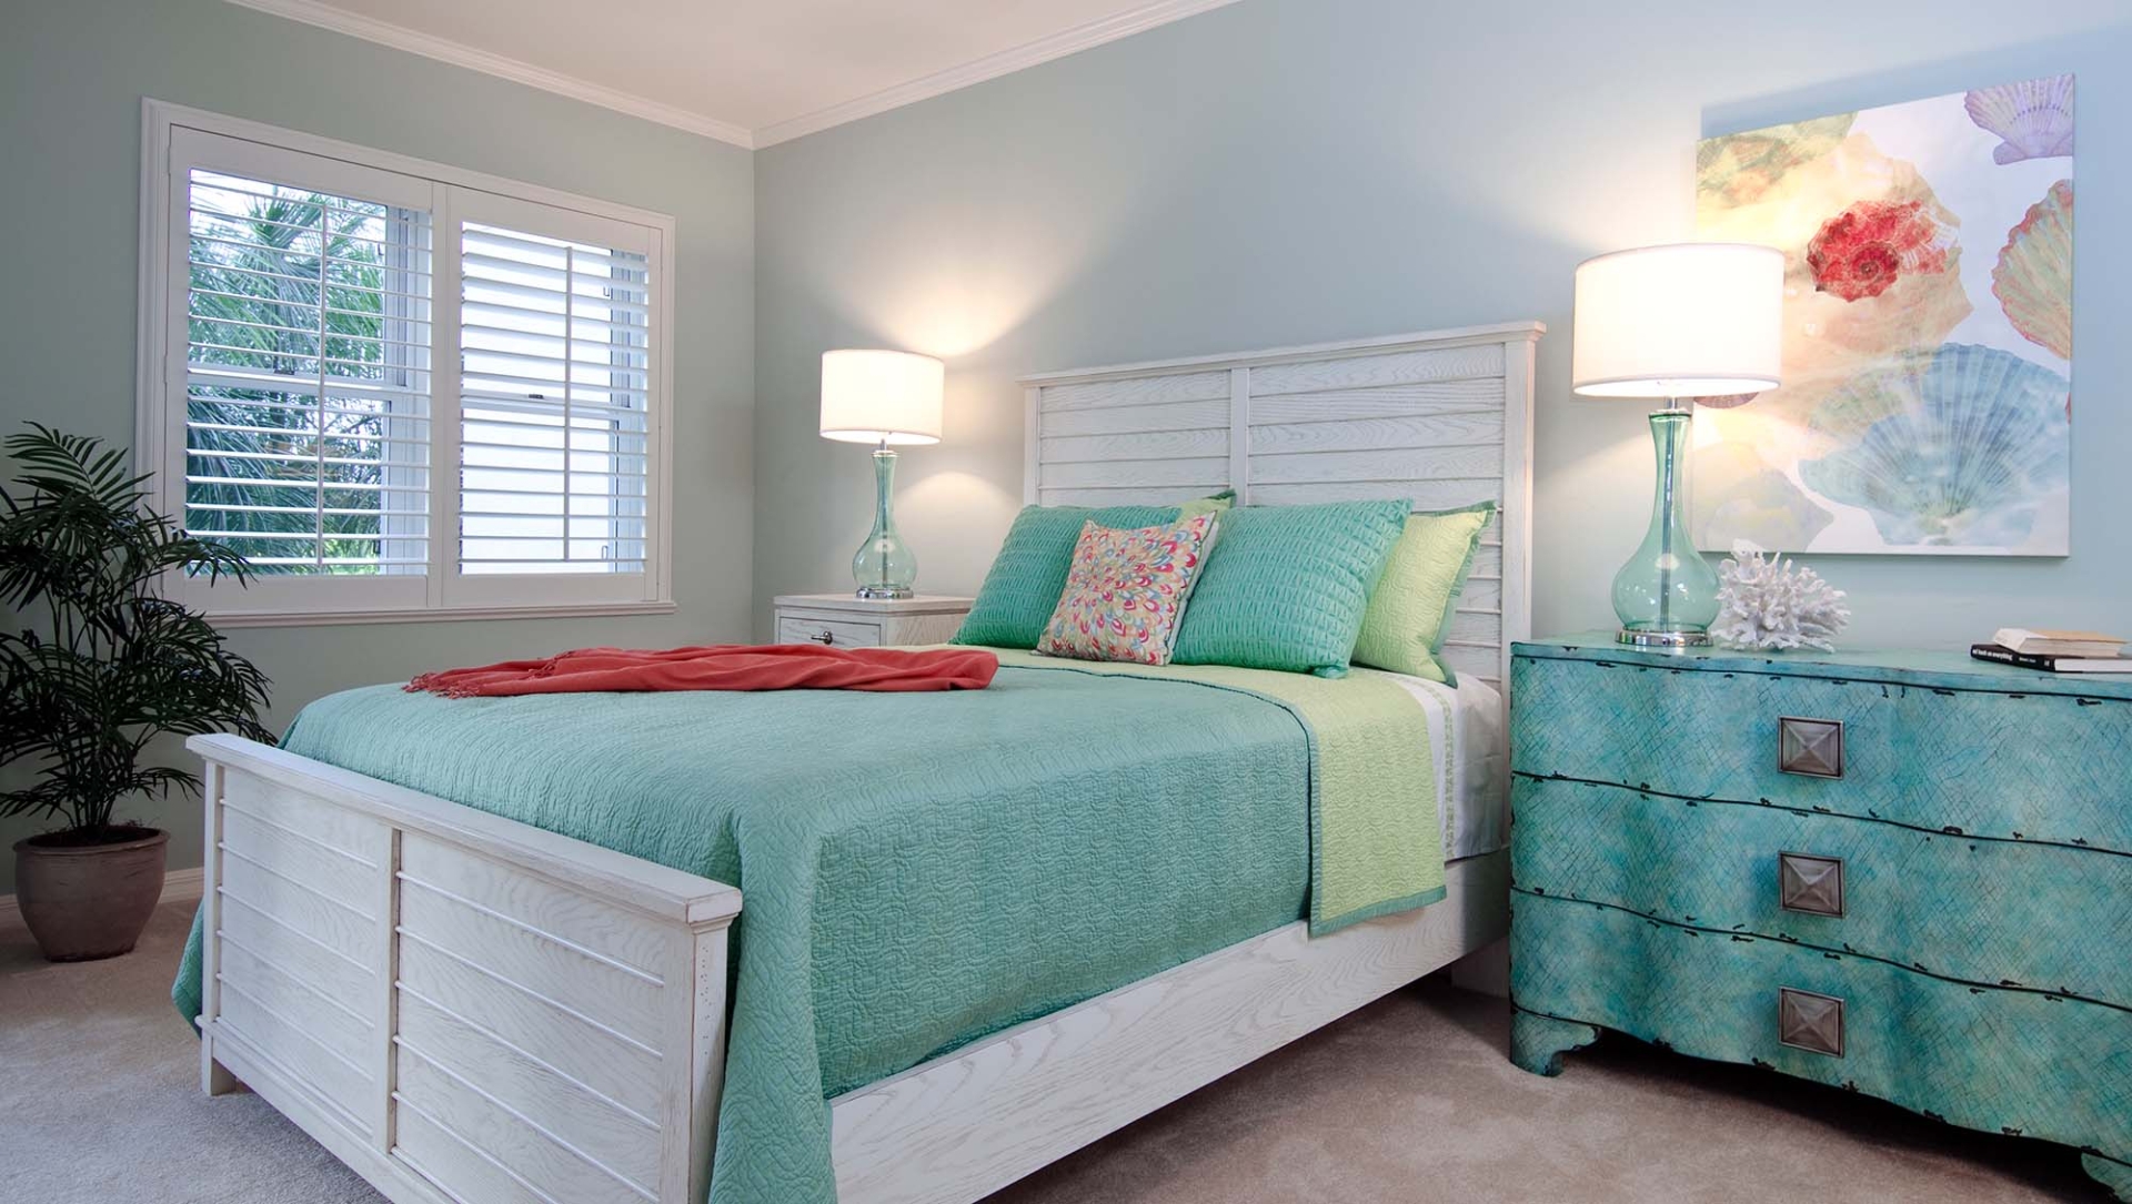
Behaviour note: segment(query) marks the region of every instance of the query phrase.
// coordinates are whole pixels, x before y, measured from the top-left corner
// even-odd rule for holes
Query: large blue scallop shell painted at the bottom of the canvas
[[[1872,516],[1889,546],[2021,548],[2066,492],[2066,377],[1998,347],[1944,343],[1861,379],[1893,413],[1799,479]]]

